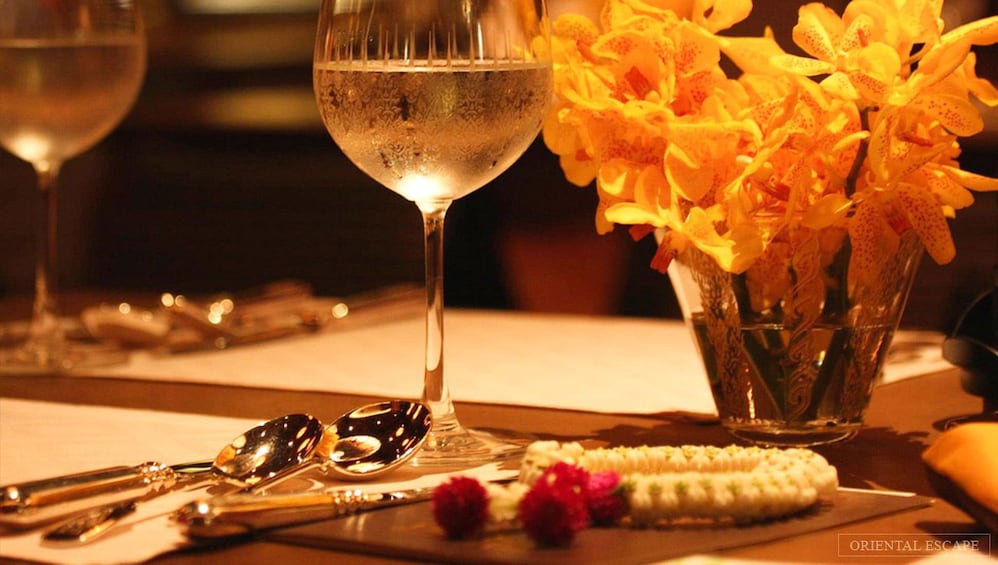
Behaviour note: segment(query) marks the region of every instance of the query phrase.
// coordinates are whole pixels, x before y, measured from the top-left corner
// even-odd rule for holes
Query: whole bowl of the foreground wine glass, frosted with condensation
[[[474,15],[446,10],[460,2],[436,4],[446,14],[443,24],[430,17],[432,3],[382,4],[403,14],[383,10],[380,17],[336,22],[355,14],[330,17],[323,10],[320,33],[323,22],[331,31],[317,45],[313,75],[323,123],[358,168],[405,198],[461,198],[508,169],[541,126],[550,62],[528,48],[535,38],[519,26],[512,26],[519,41],[502,27],[506,17],[535,13],[490,13],[472,27]],[[465,27],[446,25],[459,17]],[[408,25],[399,29],[396,19]],[[539,33],[540,22],[533,25]]]

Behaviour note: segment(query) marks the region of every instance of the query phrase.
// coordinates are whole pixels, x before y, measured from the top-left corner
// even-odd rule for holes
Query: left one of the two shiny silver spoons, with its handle
[[[310,460],[321,445],[323,433],[322,423],[308,414],[275,418],[232,440],[210,466],[195,463],[159,467],[161,475],[151,479],[151,482],[159,484],[149,488],[142,496],[84,511],[47,531],[44,538],[50,541],[89,541],[134,512],[140,501],[165,494],[178,485],[194,488],[205,482],[241,487],[257,484]],[[80,486],[81,494],[85,496],[87,485],[81,483]]]

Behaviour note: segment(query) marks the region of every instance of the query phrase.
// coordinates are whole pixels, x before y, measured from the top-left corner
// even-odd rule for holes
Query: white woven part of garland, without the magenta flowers
[[[702,445],[585,449],[578,443],[534,442],[519,483],[533,484],[549,466],[564,461],[590,473],[614,471],[630,504],[634,525],[684,518],[751,522],[786,516],[815,504],[838,488],[838,474],[809,449]],[[510,489],[510,487],[507,487]],[[509,516],[511,499],[499,496]],[[498,508],[496,509],[498,510]],[[496,516],[498,517],[498,516]]]

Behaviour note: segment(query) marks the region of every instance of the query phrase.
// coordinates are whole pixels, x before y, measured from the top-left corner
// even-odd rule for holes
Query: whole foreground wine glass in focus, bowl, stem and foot
[[[416,465],[518,456],[522,438],[463,427],[444,378],[443,236],[451,203],[509,168],[552,97],[543,0],[323,0],[313,85],[322,121],[362,171],[419,208],[426,254]],[[519,439],[519,441],[517,441]]]

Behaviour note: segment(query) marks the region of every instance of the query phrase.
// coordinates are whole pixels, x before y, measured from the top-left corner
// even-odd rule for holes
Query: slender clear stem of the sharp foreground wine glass
[[[433,413],[434,432],[459,427],[444,379],[444,216],[450,201],[418,202],[426,254],[426,372],[423,402]]]

